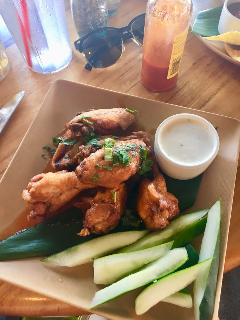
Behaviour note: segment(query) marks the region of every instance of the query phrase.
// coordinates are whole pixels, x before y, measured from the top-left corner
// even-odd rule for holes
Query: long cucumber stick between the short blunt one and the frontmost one
[[[141,271],[127,276],[122,280],[119,280],[116,283],[96,292],[89,309],[95,308],[100,304],[117,298],[126,292],[137,289],[145,284],[151,283],[156,279],[166,276],[179,268],[187,260],[188,254],[185,248],[171,250],[162,258],[148,263],[146,267],[141,269]]]

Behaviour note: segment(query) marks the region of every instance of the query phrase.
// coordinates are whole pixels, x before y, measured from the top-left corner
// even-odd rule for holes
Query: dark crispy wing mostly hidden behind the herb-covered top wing
[[[101,140],[97,141],[97,143],[100,146],[96,145],[91,145],[91,144],[86,144],[84,146],[80,146],[78,149],[78,152],[75,156],[75,161],[78,161],[78,164],[80,164],[85,158],[89,157],[91,153],[95,153],[97,150],[101,149],[103,147],[103,142],[106,138],[112,138],[111,135],[108,136],[99,136]],[[125,137],[118,137],[118,139],[112,138],[115,143],[117,141],[126,141],[126,140],[133,140],[133,139],[140,139],[144,141],[144,143],[148,144],[149,139],[148,139],[148,134],[147,132],[144,131],[137,131],[137,132],[132,132],[131,135],[125,136]]]

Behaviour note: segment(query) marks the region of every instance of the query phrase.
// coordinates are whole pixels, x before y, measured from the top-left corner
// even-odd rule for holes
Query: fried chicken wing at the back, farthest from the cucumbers
[[[84,136],[93,130],[99,134],[111,134],[118,128],[127,129],[136,121],[136,116],[123,108],[90,109],[76,114],[67,128],[76,136]]]

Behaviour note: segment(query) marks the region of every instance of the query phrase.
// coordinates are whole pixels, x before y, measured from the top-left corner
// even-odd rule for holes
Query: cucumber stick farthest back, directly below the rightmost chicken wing
[[[137,251],[171,241],[176,234],[203,218],[207,212],[208,209],[205,209],[179,216],[178,218],[170,221],[169,225],[164,230],[151,232],[147,236],[128,245],[117,253]],[[187,242],[185,242],[185,244]]]

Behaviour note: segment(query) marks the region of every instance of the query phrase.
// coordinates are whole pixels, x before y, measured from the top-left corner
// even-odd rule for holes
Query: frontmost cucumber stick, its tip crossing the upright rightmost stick
[[[173,249],[170,251],[174,251]],[[137,296],[135,300],[135,311],[137,315],[142,315],[150,308],[155,306],[159,301],[170,295],[182,290],[188,284],[193,282],[196,277],[204,272],[211,265],[212,259],[205,260],[187,269],[183,269],[165,276],[157,282],[149,285]]]

